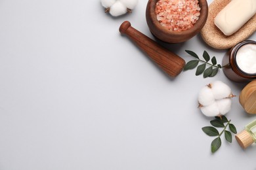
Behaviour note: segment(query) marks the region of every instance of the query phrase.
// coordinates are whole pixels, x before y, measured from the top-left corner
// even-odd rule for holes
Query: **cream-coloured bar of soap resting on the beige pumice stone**
[[[224,33],[232,35],[256,13],[256,0],[232,0],[215,17],[215,25]]]

